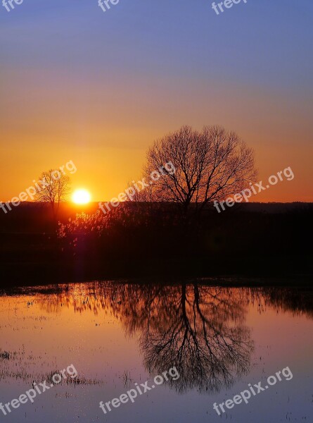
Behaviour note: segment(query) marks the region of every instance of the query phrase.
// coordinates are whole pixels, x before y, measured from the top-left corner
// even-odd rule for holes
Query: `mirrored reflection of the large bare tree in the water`
[[[216,392],[248,372],[253,343],[238,291],[186,283],[119,291],[122,307],[113,307],[129,335],[140,331],[143,362],[152,376],[176,366],[178,391]]]

